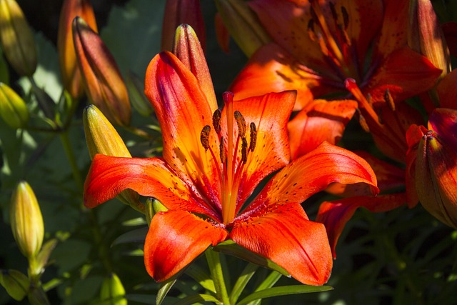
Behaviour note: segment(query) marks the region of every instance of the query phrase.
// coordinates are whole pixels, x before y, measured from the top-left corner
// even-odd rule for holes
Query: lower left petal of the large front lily
[[[187,211],[159,212],[144,243],[144,265],[156,281],[165,281],[226,236],[225,229]]]

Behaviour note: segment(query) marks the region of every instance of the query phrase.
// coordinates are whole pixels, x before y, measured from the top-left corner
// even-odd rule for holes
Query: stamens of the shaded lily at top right
[[[328,3],[333,17],[334,31],[332,32],[318,1],[310,0],[310,3],[311,19],[308,22],[308,35],[311,40],[319,44],[322,54],[328,59],[328,64],[334,68],[341,79],[351,77],[359,81],[359,74],[356,69],[356,52],[347,33],[348,11],[344,6],[341,6],[341,14],[338,14],[335,4]]]

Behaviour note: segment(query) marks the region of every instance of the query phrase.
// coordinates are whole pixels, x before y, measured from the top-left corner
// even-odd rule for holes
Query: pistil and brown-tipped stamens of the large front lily
[[[221,136],[221,111],[217,109],[213,114],[213,128],[220,139],[219,158],[216,157],[209,145],[211,126],[204,126],[201,130],[200,140],[204,149],[210,151],[211,158],[219,171],[222,219],[224,224],[229,224],[235,218],[243,167],[248,161],[249,154],[256,148],[257,129],[256,124],[251,123],[249,125],[248,143],[246,120],[240,111],[233,111],[233,94],[225,92],[223,97],[226,106],[227,139]]]

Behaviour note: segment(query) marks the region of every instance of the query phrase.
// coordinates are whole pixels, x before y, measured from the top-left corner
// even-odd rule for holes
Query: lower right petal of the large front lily
[[[257,211],[233,224],[231,239],[286,269],[303,284],[322,285],[333,261],[325,227],[309,221],[299,204],[284,204]]]

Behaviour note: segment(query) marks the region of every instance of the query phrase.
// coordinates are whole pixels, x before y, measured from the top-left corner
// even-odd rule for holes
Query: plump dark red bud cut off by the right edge
[[[457,150],[435,131],[418,145],[416,190],[422,206],[439,221],[457,229]]]

